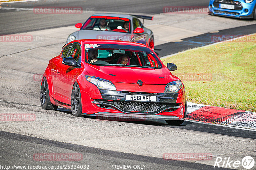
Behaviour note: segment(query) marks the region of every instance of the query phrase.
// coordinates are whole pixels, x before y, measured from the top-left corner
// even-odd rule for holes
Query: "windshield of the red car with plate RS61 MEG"
[[[156,55],[146,47],[116,44],[85,44],[85,61],[93,65],[162,68]]]

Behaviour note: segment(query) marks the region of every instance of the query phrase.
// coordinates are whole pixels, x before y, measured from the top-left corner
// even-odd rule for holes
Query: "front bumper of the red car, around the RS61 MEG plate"
[[[82,115],[123,117],[131,119],[184,120],[186,97],[183,87],[179,93],[142,93],[157,96],[157,102],[125,101],[125,94],[138,92],[99,90],[87,93],[81,90]],[[98,96],[98,97],[97,97]]]

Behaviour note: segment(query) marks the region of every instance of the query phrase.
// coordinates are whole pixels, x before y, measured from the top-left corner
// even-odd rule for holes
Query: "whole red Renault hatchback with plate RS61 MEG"
[[[183,83],[148,46],[83,39],[63,46],[41,83],[43,109],[70,109],[74,116],[165,120],[182,124],[187,110]],[[127,119],[128,120],[128,119]]]

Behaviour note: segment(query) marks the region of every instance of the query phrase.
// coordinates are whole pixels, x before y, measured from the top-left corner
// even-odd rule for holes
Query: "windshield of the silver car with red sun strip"
[[[91,16],[82,29],[131,33],[131,21],[128,18]]]

